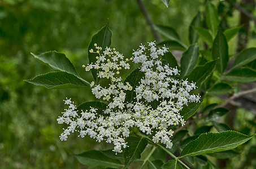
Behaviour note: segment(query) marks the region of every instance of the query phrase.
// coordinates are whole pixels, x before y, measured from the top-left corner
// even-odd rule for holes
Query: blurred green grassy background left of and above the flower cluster
[[[172,26],[188,45],[189,24],[202,10],[202,0],[172,0],[168,8],[159,0],[143,2],[154,24]],[[0,1],[0,168],[86,168],[72,154],[112,147],[77,135],[59,140],[63,126],[56,119],[65,108],[63,99],[79,105],[94,99],[90,91],[47,90],[23,81],[50,71],[30,54],[50,50],[66,54],[90,81],[81,65],[88,63],[92,35],[107,20],[111,46],[127,57],[140,43],[154,41],[136,1]],[[229,21],[237,22],[238,17]]]

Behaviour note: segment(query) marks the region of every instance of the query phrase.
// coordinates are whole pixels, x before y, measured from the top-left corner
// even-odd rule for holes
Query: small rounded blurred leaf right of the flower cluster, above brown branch
[[[232,90],[233,90],[232,87],[228,83],[218,83],[211,88],[208,94],[211,96],[220,96],[220,95],[228,94]]]

